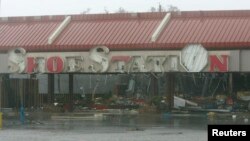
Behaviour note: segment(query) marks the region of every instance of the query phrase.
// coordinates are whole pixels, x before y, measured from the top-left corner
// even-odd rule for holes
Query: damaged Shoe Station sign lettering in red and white
[[[226,72],[229,58],[228,52],[213,54],[200,45],[182,51],[110,52],[105,46],[89,52],[25,53],[22,50],[9,52],[11,73]]]

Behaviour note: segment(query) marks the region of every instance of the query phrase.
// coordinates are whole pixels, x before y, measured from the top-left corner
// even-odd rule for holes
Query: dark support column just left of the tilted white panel
[[[175,73],[167,73],[166,77],[168,111],[171,111],[174,107]]]

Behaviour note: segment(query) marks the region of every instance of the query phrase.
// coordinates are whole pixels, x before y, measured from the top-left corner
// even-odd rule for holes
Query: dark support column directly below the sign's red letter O
[[[54,103],[54,80],[55,76],[54,74],[48,74],[48,103],[53,104]]]

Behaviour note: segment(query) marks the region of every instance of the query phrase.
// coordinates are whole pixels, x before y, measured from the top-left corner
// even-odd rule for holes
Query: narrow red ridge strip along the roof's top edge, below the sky
[[[114,20],[114,19],[161,19],[167,12],[139,12],[139,13],[109,13],[109,14],[77,14],[70,15],[72,20]],[[135,16],[136,15],[136,16]],[[171,12],[173,18],[192,18],[192,17],[250,17],[250,10],[215,10],[215,11],[177,11]],[[8,22],[30,22],[30,21],[59,21],[65,15],[42,15],[42,16],[19,16],[19,17],[0,17],[0,23]]]

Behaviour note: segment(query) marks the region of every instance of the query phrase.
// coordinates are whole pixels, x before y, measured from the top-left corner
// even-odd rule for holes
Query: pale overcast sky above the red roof
[[[104,9],[115,12],[123,7],[130,12],[149,11],[159,3],[181,11],[190,10],[248,10],[250,0],[0,0],[0,16],[69,15],[104,13]]]

